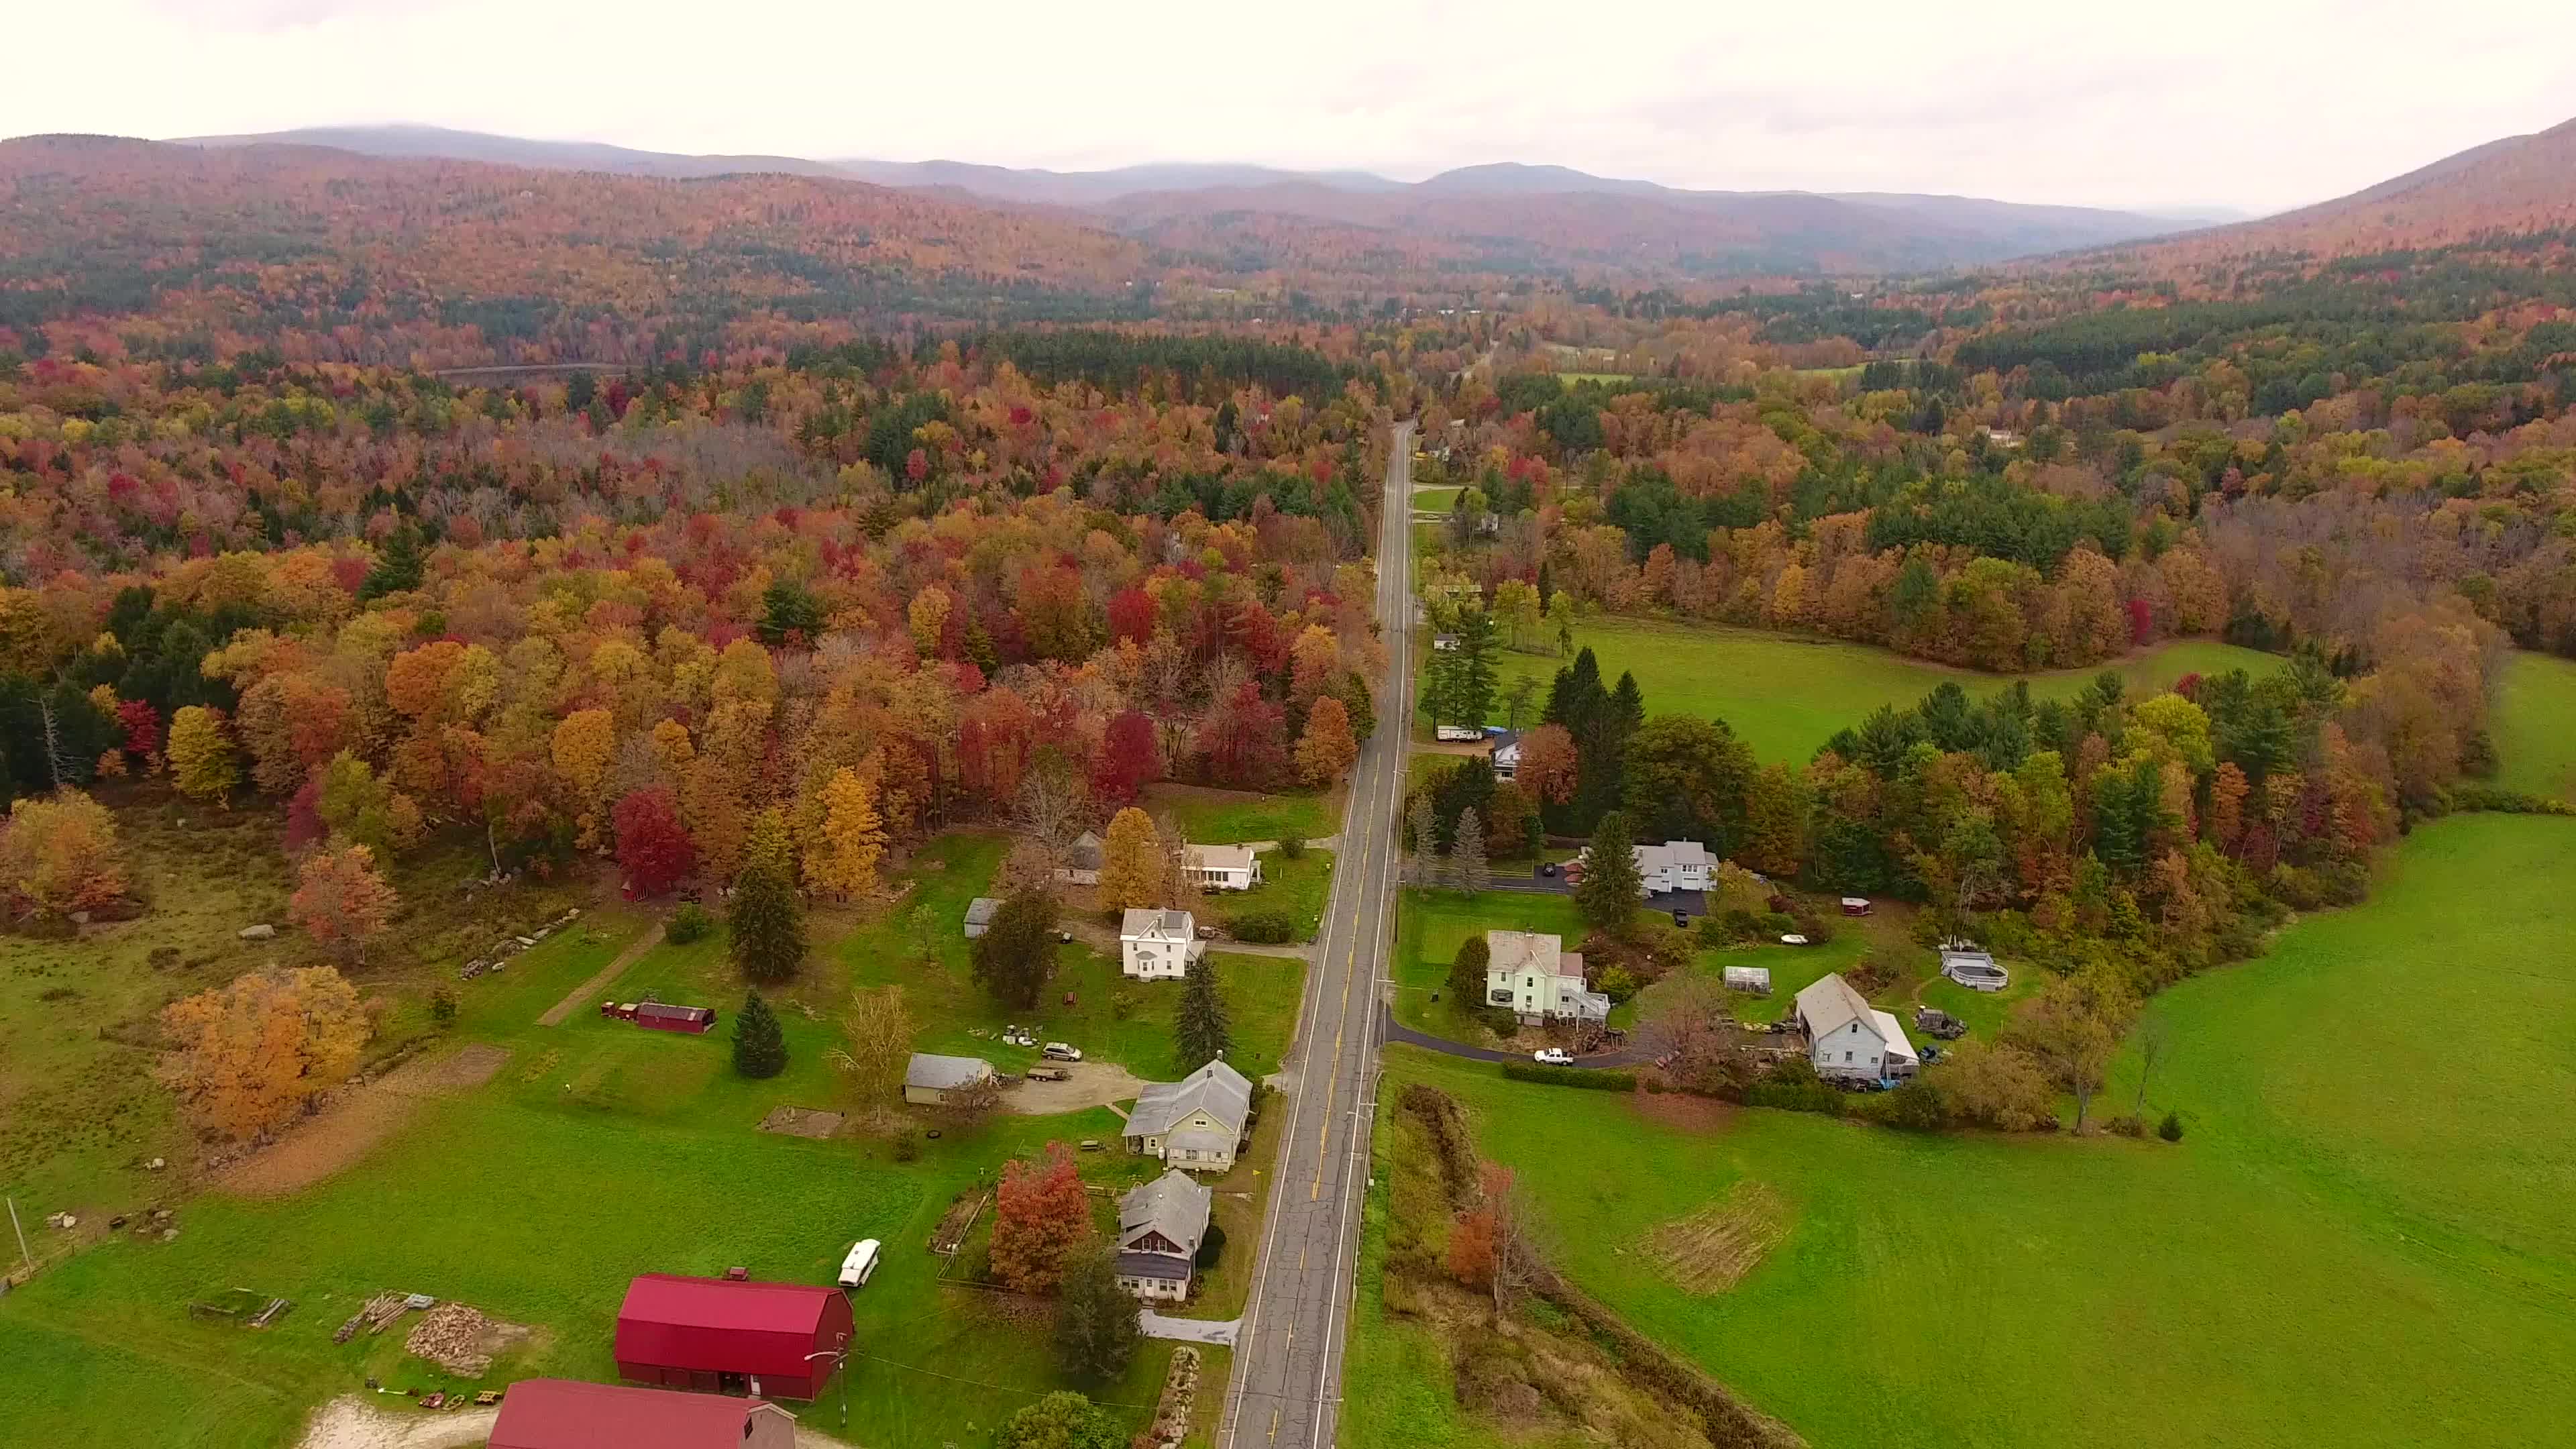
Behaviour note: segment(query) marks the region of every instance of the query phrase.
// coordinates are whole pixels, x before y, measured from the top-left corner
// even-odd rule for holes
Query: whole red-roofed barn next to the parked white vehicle
[[[840,1289],[644,1274],[618,1310],[618,1377],[811,1400],[850,1338]]]

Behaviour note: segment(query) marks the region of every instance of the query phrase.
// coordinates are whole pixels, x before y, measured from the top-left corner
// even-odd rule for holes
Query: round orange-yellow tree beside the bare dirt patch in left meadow
[[[216,1137],[252,1137],[348,1080],[366,1047],[358,990],[332,967],[250,972],[162,1008],[157,1075]]]

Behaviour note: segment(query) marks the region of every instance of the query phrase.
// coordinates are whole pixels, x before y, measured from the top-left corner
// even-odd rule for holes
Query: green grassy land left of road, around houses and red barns
[[[899,1160],[886,1137],[760,1129],[778,1106],[855,1106],[829,1062],[842,1039],[835,1018],[853,985],[902,982],[922,1049],[971,1049],[1005,1070],[1025,1065],[1030,1052],[974,1036],[1005,1013],[966,977],[958,933],[963,905],[987,890],[999,851],[989,835],[943,835],[912,861],[914,890],[891,910],[814,915],[806,975],[770,993],[791,1052],[773,1080],[734,1075],[726,1024],[708,1036],[641,1031],[600,1018],[587,995],[559,1026],[538,1024],[647,938],[644,910],[585,913],[502,975],[459,982],[459,1021],[420,1062],[440,1070],[479,1062],[484,1070],[464,1078],[484,1080],[392,1096],[371,1088],[366,1111],[327,1114],[309,1129],[319,1137],[319,1163],[304,1150],[283,1163],[263,1155],[196,1196],[175,1181],[155,1183],[155,1196],[178,1209],[178,1240],[116,1235],[0,1299],[0,1356],[13,1364],[10,1392],[0,1395],[0,1444],[273,1449],[294,1439],[314,1405],[361,1390],[366,1377],[425,1392],[531,1374],[613,1379],[611,1328],[631,1274],[719,1274],[739,1263],[762,1279],[829,1281],[855,1238],[881,1238],[886,1258],[855,1297],[853,1441],[971,1444],[1020,1403],[1059,1387],[1084,1387],[1141,1423],[1170,1346],[1146,1343],[1118,1382],[1069,1385],[1054,1364],[1043,1312],[1033,1318],[1007,1294],[943,1287],[945,1258],[925,1253],[933,1225],[961,1191],[989,1183],[1002,1160],[1048,1140],[1115,1145],[1113,1111],[1005,1111],[914,1140],[912,1160]],[[914,910],[940,923],[927,951],[917,946]],[[1255,1073],[1275,1067],[1293,1026],[1298,962],[1218,957],[1218,972],[1239,1060]],[[1079,1006],[1051,1008],[1048,1034],[1146,1078],[1180,1070],[1170,993],[1121,995],[1115,967],[1084,946],[1064,946],[1056,985]],[[634,1000],[644,990],[719,1006],[726,1018],[742,1000],[721,931],[644,949],[600,995]],[[358,1140],[332,1147],[343,1129]],[[1262,1134],[1249,1158],[1236,1168],[1244,1183],[1234,1183],[1247,1194],[1265,1160]],[[1108,1189],[1151,1176],[1146,1160],[1115,1147],[1084,1152],[1079,1165]],[[1100,1201],[1108,1209],[1113,1196]],[[1257,1207],[1239,1207],[1229,1230],[1239,1230],[1247,1253],[1218,1263],[1200,1312],[1239,1310],[1247,1274],[1231,1271],[1231,1258],[1249,1256]],[[296,1307],[260,1333],[185,1312],[191,1299],[229,1287],[283,1294]],[[335,1346],[332,1328],[384,1289],[453,1297],[536,1333],[471,1385],[410,1359],[399,1341],[407,1325]],[[1224,1382],[1221,1354],[1208,1372]],[[804,1423],[837,1434],[837,1415],[840,1385],[832,1385]],[[1203,1395],[1200,1436],[1213,1431],[1213,1415],[1216,1395]]]

